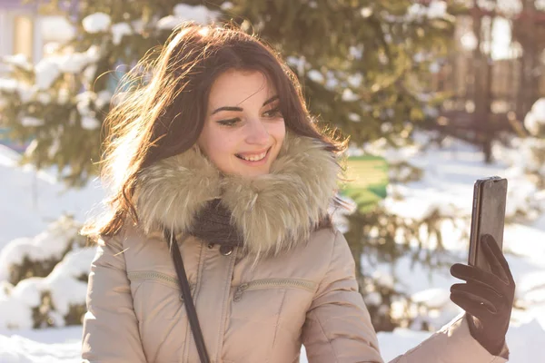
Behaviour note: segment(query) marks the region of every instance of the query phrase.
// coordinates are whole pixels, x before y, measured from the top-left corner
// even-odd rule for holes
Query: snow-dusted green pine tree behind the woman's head
[[[444,12],[446,3],[439,1],[421,3],[134,0],[128,6],[111,0],[80,1],[77,15],[71,17],[76,35],[64,45],[64,54],[36,66],[19,58],[5,60],[12,71],[11,79],[0,83],[2,122],[15,137],[34,139],[26,162],[39,168],[56,166],[68,185],[84,185],[97,172],[101,126],[124,71],[163,44],[180,20],[233,21],[281,52],[322,123],[350,135],[354,146],[377,140],[400,146],[411,142],[411,132],[432,117],[430,110],[444,97],[428,92],[427,82],[431,63],[449,47],[451,14],[457,10],[449,5]],[[364,253],[394,263],[412,253],[414,260],[441,266],[443,260],[422,257],[408,244],[396,243],[395,236],[403,230],[420,238],[421,225],[436,231],[443,219],[431,213],[424,221],[407,222],[383,207],[356,211],[349,217],[347,239],[356,257]],[[380,230],[379,237],[372,234],[373,228]],[[441,246],[440,234],[438,240]],[[381,286],[362,269],[359,258],[356,262],[362,271],[362,294],[378,291],[381,296],[376,303],[367,300],[375,328],[390,330],[401,324],[391,317],[391,302],[408,297]]]

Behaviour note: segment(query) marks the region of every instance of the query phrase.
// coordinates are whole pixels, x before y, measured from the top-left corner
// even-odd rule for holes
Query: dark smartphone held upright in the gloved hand
[[[491,272],[490,265],[481,250],[481,236],[490,234],[500,246],[500,250],[502,249],[506,201],[507,179],[492,176],[475,182],[468,259],[471,266]]]

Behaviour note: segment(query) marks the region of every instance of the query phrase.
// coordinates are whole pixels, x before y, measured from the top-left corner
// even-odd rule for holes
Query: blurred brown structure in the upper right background
[[[545,95],[545,6],[540,1],[468,0],[456,19],[456,46],[438,64],[431,89],[450,93],[434,126],[482,145],[501,131],[523,133],[524,117]]]

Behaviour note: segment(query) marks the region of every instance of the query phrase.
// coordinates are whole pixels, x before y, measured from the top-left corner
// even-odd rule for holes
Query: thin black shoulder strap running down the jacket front
[[[170,247],[169,250],[173,258],[174,268],[176,269],[176,274],[178,275],[178,283],[180,285],[180,289],[182,289],[185,311],[187,311],[189,325],[193,331],[193,338],[195,339],[195,345],[199,351],[201,363],[210,363],[210,358],[208,358],[206,346],[204,345],[203,331],[199,325],[197,311],[195,310],[193,298],[191,296],[191,289],[185,274],[185,268],[183,267],[182,254],[180,253],[180,248],[178,247],[178,241],[176,240],[174,234],[169,230],[164,230],[164,238]]]

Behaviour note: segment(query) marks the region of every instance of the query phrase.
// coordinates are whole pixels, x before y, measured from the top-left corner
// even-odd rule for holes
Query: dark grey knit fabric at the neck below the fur
[[[208,243],[240,246],[243,238],[236,226],[231,224],[231,211],[223,207],[221,199],[209,201],[201,210],[189,233]]]

